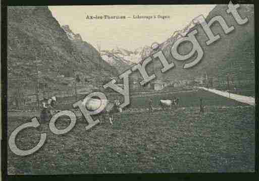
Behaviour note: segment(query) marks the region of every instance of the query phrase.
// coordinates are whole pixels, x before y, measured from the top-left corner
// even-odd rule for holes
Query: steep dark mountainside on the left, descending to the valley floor
[[[8,93],[74,91],[75,78],[92,88],[118,75],[79,34],[61,27],[44,6],[8,7]]]

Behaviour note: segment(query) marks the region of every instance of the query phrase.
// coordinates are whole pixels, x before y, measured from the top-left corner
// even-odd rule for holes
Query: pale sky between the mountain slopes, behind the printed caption
[[[116,6],[48,6],[60,25],[69,25],[74,33],[101,50],[125,48],[135,50],[162,43],[181,30],[193,18],[206,17],[216,5],[116,5]],[[126,19],[91,20],[86,16],[125,16]],[[156,16],[156,19],[133,19],[133,16]],[[161,19],[158,16],[169,16]]]

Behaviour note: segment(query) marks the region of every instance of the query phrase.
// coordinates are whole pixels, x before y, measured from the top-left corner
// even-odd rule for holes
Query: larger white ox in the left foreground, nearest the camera
[[[119,106],[119,100],[114,100],[112,102],[107,99],[90,98],[87,100],[83,100],[82,104],[85,105],[89,111],[94,111],[98,109],[101,106],[101,104],[106,104],[105,108],[99,114],[101,114],[103,120],[105,120],[105,114],[109,113],[109,120],[111,124],[113,124],[113,114],[115,112],[122,112],[122,108]]]

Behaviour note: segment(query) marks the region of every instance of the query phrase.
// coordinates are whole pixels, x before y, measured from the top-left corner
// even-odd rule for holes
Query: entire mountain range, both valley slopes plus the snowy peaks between
[[[222,16],[235,30],[225,34],[218,23],[211,26],[214,34],[221,38],[211,45],[200,24],[190,22],[172,36],[165,38],[156,51],[162,50],[175,68],[161,74],[162,65],[154,60],[148,72],[155,72],[159,80],[178,81],[200,77],[204,72],[218,79],[226,79],[230,74],[235,79],[254,80],[254,10],[253,5],[240,5],[238,12],[247,17],[248,23],[238,25],[232,15],[226,13],[227,5],[217,5],[205,18]],[[204,55],[200,63],[188,70],[184,63],[172,57],[171,48],[181,36],[196,29],[195,37]],[[181,35],[181,36],[180,36]],[[155,40],[154,40],[155,41]],[[180,54],[191,51],[189,42],[178,47]],[[99,53],[80,34],[71,31],[68,25],[61,26],[47,7],[8,7],[8,94],[13,95],[17,88],[26,93],[35,93],[39,84],[47,85],[48,91],[74,91],[75,78],[85,81],[95,89],[111,77],[116,77],[135,64],[140,63],[155,51],[149,45],[134,51],[123,47],[101,50]],[[139,74],[137,76],[140,78]],[[41,91],[42,92],[42,91]]]

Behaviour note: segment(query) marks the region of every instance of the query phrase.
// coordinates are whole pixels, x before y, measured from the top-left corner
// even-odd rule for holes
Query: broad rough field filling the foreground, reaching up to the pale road
[[[180,107],[149,114],[164,98],[180,98]],[[205,113],[199,115],[199,98]],[[63,107],[62,105],[61,107]],[[71,105],[68,105],[70,107]],[[64,108],[64,107],[63,107]],[[46,132],[43,147],[21,157],[8,148],[9,174],[143,173],[143,172],[252,172],[254,171],[254,107],[206,91],[154,94],[131,98],[128,109],[85,131],[85,120],[65,135],[50,132],[48,124],[25,129],[17,146],[30,149],[39,133]],[[29,117],[10,116],[8,135]],[[59,120],[57,128],[69,125]]]

